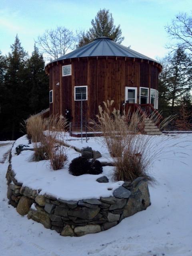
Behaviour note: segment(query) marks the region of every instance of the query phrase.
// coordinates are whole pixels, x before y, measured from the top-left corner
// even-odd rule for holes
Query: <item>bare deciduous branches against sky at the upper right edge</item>
[[[192,16],[181,12],[165,29],[172,39],[172,43],[167,45],[168,48],[175,50],[179,46],[192,51]]]

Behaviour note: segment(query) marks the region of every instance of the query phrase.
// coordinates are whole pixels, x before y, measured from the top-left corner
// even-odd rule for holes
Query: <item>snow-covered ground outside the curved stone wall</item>
[[[162,136],[156,136],[157,144]],[[151,170],[157,180],[149,188],[151,206],[109,230],[82,237],[59,236],[20,216],[6,198],[8,162],[0,164],[1,256],[192,256],[192,134],[172,136],[167,144],[174,145],[174,140],[183,142]],[[79,141],[69,142],[81,147]],[[93,139],[90,142],[96,149]],[[12,146],[2,143],[0,159]],[[185,153],[184,158],[176,152]]]

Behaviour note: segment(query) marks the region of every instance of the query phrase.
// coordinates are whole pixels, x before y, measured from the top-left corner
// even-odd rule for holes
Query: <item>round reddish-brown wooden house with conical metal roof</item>
[[[50,114],[62,114],[73,124],[95,118],[98,105],[114,100],[151,104],[158,109],[156,60],[100,37],[46,65],[50,77]]]

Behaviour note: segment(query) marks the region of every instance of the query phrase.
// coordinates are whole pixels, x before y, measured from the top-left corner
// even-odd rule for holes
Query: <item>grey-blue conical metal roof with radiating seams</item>
[[[57,60],[66,60],[70,58],[80,58],[80,57],[92,57],[92,56],[122,56],[131,58],[140,58],[145,60],[156,60],[149,58],[139,52],[131,50],[121,44],[114,42],[112,39],[102,36],[96,38],[93,42],[86,44],[60,58]],[[56,60],[52,61],[55,62]]]

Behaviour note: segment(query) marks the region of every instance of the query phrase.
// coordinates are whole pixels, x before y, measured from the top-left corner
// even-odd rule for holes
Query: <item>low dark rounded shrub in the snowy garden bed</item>
[[[98,160],[86,159],[82,156],[74,158],[69,165],[69,172],[74,176],[82,174],[100,174],[103,172],[101,163]]]

